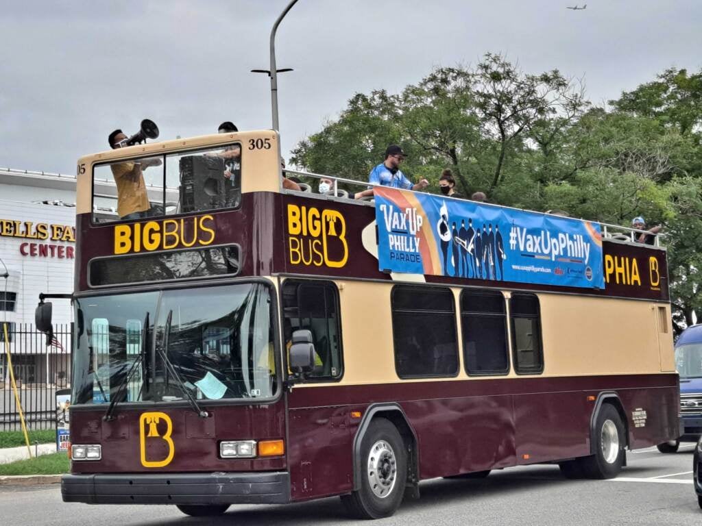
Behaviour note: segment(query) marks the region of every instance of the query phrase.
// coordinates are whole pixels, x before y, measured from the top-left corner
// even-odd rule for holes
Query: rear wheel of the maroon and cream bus
[[[624,425],[614,405],[602,404],[595,423],[595,454],[580,459],[587,478],[614,478],[624,465]]]

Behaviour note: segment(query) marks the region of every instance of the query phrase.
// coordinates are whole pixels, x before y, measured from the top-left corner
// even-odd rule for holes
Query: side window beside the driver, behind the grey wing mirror
[[[314,370],[307,379],[339,379],[343,372],[339,299],[332,281],[286,280],[283,285],[283,348],[292,333],[312,332]]]

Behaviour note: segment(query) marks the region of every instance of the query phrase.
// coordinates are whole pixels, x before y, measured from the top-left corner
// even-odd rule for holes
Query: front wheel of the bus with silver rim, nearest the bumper
[[[341,500],[359,519],[390,517],[404,496],[407,480],[406,446],[397,428],[385,418],[375,418],[361,442],[357,461],[362,473],[359,489]]]

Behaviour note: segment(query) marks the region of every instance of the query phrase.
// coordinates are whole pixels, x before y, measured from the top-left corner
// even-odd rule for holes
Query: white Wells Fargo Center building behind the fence
[[[95,190],[116,195],[114,182],[109,180],[96,181]],[[44,336],[34,332],[34,309],[40,292],[73,292],[75,202],[74,175],[0,168],[0,276],[4,276],[5,267],[9,274],[6,279],[0,277],[0,322],[13,324],[10,349],[22,389],[53,389],[69,383],[71,304],[68,299],[48,300],[53,303],[58,342],[48,347]],[[0,342],[4,342],[1,323]],[[13,412],[13,402],[1,394],[9,382],[1,344],[0,350],[1,424],[3,415]]]

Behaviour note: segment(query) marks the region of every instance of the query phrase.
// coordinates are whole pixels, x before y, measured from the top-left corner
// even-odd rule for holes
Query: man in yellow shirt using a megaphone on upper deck
[[[108,137],[112,149],[126,146],[126,140],[127,136],[122,130],[114,130]],[[153,215],[142,170],[160,164],[161,159],[152,158],[114,163],[110,166],[114,183],[117,184],[117,213],[120,219],[133,220]]]

